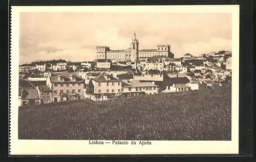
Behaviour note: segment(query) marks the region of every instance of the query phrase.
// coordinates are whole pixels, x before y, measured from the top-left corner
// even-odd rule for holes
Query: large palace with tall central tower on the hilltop
[[[167,56],[174,58],[174,54],[170,52],[170,45],[157,45],[156,49],[139,49],[139,39],[134,38],[130,44],[130,48],[122,50],[111,50],[109,46],[96,46],[97,59],[110,59],[119,61],[136,61],[139,58],[148,58],[153,56]]]

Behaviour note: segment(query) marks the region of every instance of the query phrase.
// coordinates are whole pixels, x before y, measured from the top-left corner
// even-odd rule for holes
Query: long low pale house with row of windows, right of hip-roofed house
[[[122,95],[152,95],[158,93],[158,86],[154,82],[140,82],[139,80],[123,80]]]

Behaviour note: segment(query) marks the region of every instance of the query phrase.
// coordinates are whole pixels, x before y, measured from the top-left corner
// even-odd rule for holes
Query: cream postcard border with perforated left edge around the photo
[[[89,145],[88,140],[18,140],[19,12],[179,12],[232,13],[231,141],[151,141],[152,145]],[[11,7],[11,155],[90,154],[238,154],[239,5],[209,6],[12,6]],[[107,142],[107,141],[105,141]],[[112,142],[112,141],[110,141]],[[129,141],[130,143],[131,141]]]

